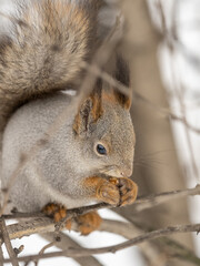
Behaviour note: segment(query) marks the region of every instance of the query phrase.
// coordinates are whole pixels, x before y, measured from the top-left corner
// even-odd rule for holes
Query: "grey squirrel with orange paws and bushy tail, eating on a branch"
[[[70,106],[73,96],[62,90],[77,89],[84,76],[80,62],[90,62],[100,43],[102,7],[100,0],[29,1],[12,17],[10,33],[0,35],[1,183],[20,212],[43,209],[58,222],[67,208],[136,201],[131,101],[101,80],[8,187],[22,154]],[[129,85],[120,55],[113,76]],[[84,235],[101,223],[94,212],[78,221]]]

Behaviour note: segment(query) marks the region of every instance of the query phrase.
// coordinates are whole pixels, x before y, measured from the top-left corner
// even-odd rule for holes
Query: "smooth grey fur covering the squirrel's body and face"
[[[30,102],[12,115],[3,135],[3,187],[18,167],[21,154],[29,152],[70,101],[70,95],[60,93]],[[81,184],[86,177],[131,175],[134,133],[129,111],[108,102],[103,110],[84,137],[76,135],[72,129],[76,114],[70,114],[57,135],[28,163],[10,193],[19,211],[39,211],[49,202],[68,208],[82,206],[96,200]],[[98,142],[110,147],[107,156],[96,153]]]

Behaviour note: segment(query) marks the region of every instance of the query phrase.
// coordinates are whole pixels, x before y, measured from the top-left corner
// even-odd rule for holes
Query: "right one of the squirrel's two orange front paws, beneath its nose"
[[[120,193],[119,206],[132,204],[136,201],[138,194],[138,186],[133,181],[127,177],[120,178],[111,177],[110,182],[112,184],[116,184],[116,186],[118,186],[119,188]]]

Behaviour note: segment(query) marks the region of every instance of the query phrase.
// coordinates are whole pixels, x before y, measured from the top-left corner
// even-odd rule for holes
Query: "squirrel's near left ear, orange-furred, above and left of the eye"
[[[78,135],[88,135],[92,125],[102,115],[101,89],[98,86],[81,104],[76,115],[73,130]]]

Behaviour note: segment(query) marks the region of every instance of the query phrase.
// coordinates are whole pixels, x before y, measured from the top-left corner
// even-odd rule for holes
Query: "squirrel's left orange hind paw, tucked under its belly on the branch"
[[[59,204],[49,203],[42,208],[42,213],[58,223],[67,216],[67,208]],[[71,229],[71,219],[66,222],[66,228]]]

